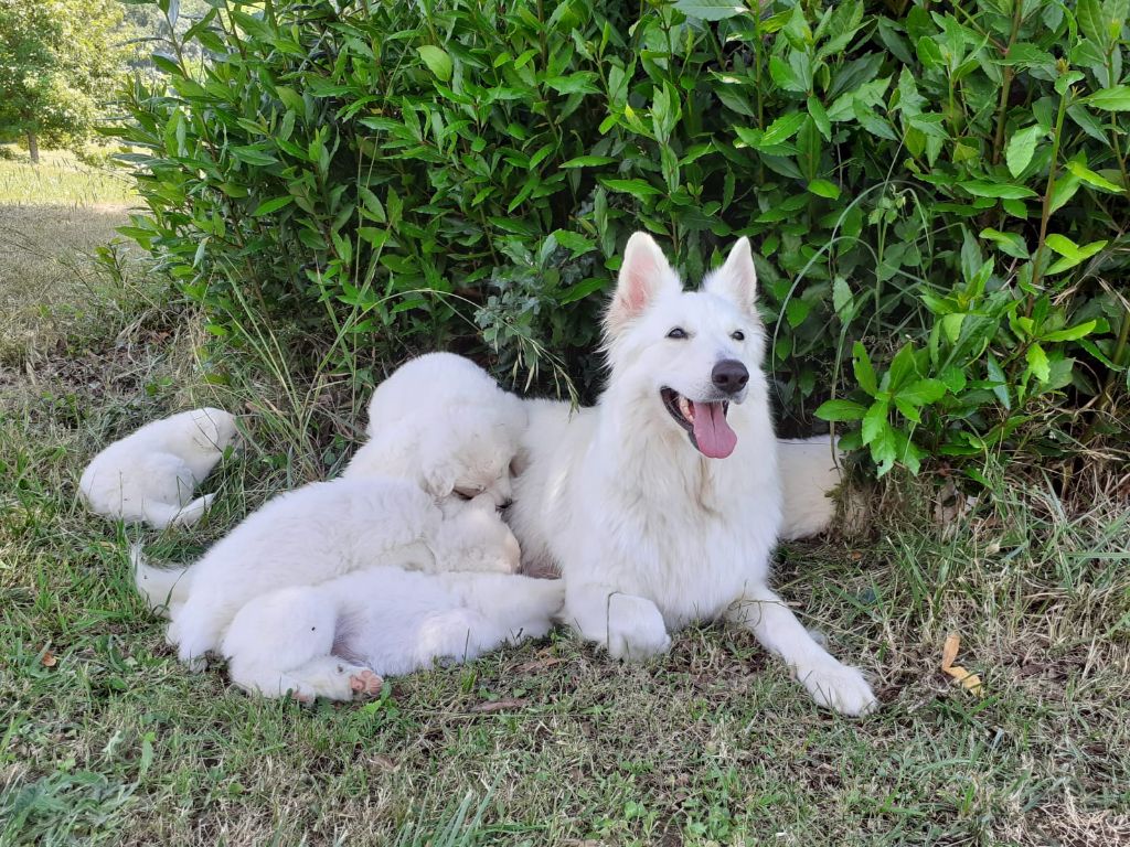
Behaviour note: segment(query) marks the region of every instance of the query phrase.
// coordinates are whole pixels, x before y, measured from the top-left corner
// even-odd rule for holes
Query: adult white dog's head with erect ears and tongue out
[[[738,442],[727,419],[730,404],[751,392],[759,400],[765,394],[765,329],[756,292],[748,238],[733,245],[701,290],[684,291],[654,239],[636,233],[605,320],[610,388],[662,405],[664,419],[704,456],[729,456]]]

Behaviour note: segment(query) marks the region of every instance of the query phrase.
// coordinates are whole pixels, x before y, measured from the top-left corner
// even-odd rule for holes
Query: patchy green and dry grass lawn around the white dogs
[[[866,539],[781,550],[782,593],[872,674],[883,710],[862,721],[816,709],[720,627],[643,665],[559,631],[367,705],[267,702],[221,667],[188,673],[132,590],[129,541],[188,560],[314,460],[249,417],[201,527],[89,515],[76,483],[111,439],[261,396],[215,394],[192,315],[128,255],[95,271],[128,198],[28,204],[11,186],[41,177],[12,168],[0,844],[1130,844],[1130,517],[1118,496],[1072,507],[1038,480],[945,532],[922,487],[888,488]],[[981,698],[939,669],[950,631]]]

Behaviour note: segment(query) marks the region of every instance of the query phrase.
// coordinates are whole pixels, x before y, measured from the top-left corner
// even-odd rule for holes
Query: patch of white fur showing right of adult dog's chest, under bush
[[[838,444],[832,436],[777,439],[781,473],[781,539],[793,541],[819,535],[836,516],[832,494],[842,483]]]

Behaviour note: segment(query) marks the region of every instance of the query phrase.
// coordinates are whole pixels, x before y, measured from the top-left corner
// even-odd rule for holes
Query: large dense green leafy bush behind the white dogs
[[[688,278],[745,234],[782,413],[860,420],[880,471],[1119,429],[1124,0],[216,6],[119,134],[124,232],[221,338],[477,346],[591,395],[628,233]]]

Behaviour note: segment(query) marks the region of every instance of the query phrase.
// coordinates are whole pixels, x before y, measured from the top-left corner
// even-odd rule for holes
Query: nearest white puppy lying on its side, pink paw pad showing
[[[249,691],[347,700],[373,692],[372,672],[470,661],[544,636],[563,601],[554,579],[374,567],[255,597],[235,615],[221,650],[232,681]]]

